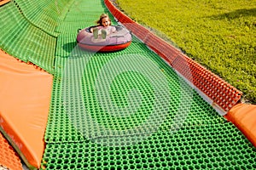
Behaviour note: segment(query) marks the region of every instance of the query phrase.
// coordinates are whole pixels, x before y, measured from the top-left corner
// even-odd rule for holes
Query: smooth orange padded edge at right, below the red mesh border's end
[[[256,105],[235,105],[225,117],[256,147]]]

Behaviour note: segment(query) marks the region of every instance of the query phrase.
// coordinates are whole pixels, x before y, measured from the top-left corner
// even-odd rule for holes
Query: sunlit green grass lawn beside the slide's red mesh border
[[[256,0],[116,0],[256,104]]]

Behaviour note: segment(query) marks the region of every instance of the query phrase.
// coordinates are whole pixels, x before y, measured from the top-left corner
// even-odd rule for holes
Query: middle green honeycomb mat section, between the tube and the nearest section
[[[61,61],[61,59],[64,61]],[[218,116],[210,105],[201,99],[192,88],[189,88],[181,78],[177,77],[171,67],[150,51],[141,54],[116,55],[113,53],[108,54],[108,56],[106,54],[104,56],[87,54],[69,58],[60,57],[57,60],[61,62],[58,64],[61,76],[56,78],[54,83],[54,92],[58,100],[53,100],[53,105],[50,108],[49,123],[45,135],[45,140],[48,142],[57,142],[59,138],[61,138],[61,141],[68,138],[82,139],[84,135],[89,138],[91,135],[95,136],[96,133],[102,133],[104,136],[110,133],[109,130],[104,130],[105,128],[112,129],[112,133],[114,131],[127,130],[134,126],[139,126],[148,117],[151,117],[152,121],[155,118],[157,122],[158,116],[161,116],[159,121],[163,122],[163,124],[160,127],[170,128],[172,127],[172,119],[179,118],[178,114],[181,111],[184,112],[183,116],[186,116],[184,117],[186,119],[183,122],[183,126],[224,122],[223,117]],[[136,63],[137,65],[135,65]],[[113,70],[111,70],[113,68],[111,65],[115,65]],[[122,66],[118,67],[118,65]],[[108,70],[109,68],[110,70]],[[124,68],[132,71],[123,72]],[[135,71],[144,71],[144,75]],[[113,77],[104,76],[106,72],[108,72],[108,75],[116,77],[113,79]],[[120,74],[114,75],[117,73]],[[97,85],[107,88],[109,86],[107,80],[97,78],[101,77],[101,75],[102,78],[109,78],[110,81],[113,79],[109,92],[106,91],[105,93],[103,88],[97,87]],[[103,90],[103,92],[96,93],[96,88]],[[154,88],[159,88],[158,93],[154,92]],[[137,89],[138,93],[140,93],[138,99],[134,99],[137,102],[141,102],[138,111],[132,111],[132,108],[129,107],[129,99],[127,98],[131,97],[128,94],[132,89]],[[159,99],[155,99],[155,95],[158,95],[157,98]],[[97,99],[102,99],[102,101]],[[155,101],[159,104],[155,105]],[[105,104],[104,102],[109,103]],[[134,113],[131,117],[115,119],[114,116],[108,114],[111,111],[106,111],[110,105],[113,105],[112,109],[120,109],[120,111],[117,111],[120,114],[122,112],[128,115]],[[114,108],[114,105],[117,107]],[[131,106],[138,107],[135,104]],[[155,117],[151,116],[154,112],[158,112]],[[92,119],[86,118],[86,116],[90,116]],[[102,122],[103,127],[95,127],[95,122],[91,122],[92,120],[96,120],[96,124],[97,122]],[[67,124],[65,123],[64,126],[63,122]],[[60,126],[62,126],[61,129],[55,128]],[[143,128],[147,126],[152,126],[152,123],[146,124]],[[135,130],[138,129],[140,128],[135,128]],[[131,131],[126,133],[137,133],[133,130]],[[146,129],[146,133],[150,132],[152,130]],[[58,134],[52,135],[53,133]]]

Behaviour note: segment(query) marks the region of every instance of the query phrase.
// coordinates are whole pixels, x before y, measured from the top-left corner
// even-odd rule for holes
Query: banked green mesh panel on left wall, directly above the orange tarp
[[[0,48],[53,73],[56,38],[26,20],[13,1],[1,7],[0,15]]]

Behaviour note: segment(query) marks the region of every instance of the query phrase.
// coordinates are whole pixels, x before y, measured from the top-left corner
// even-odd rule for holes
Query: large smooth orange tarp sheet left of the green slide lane
[[[43,157],[52,81],[0,50],[0,126],[28,166],[39,167]]]

